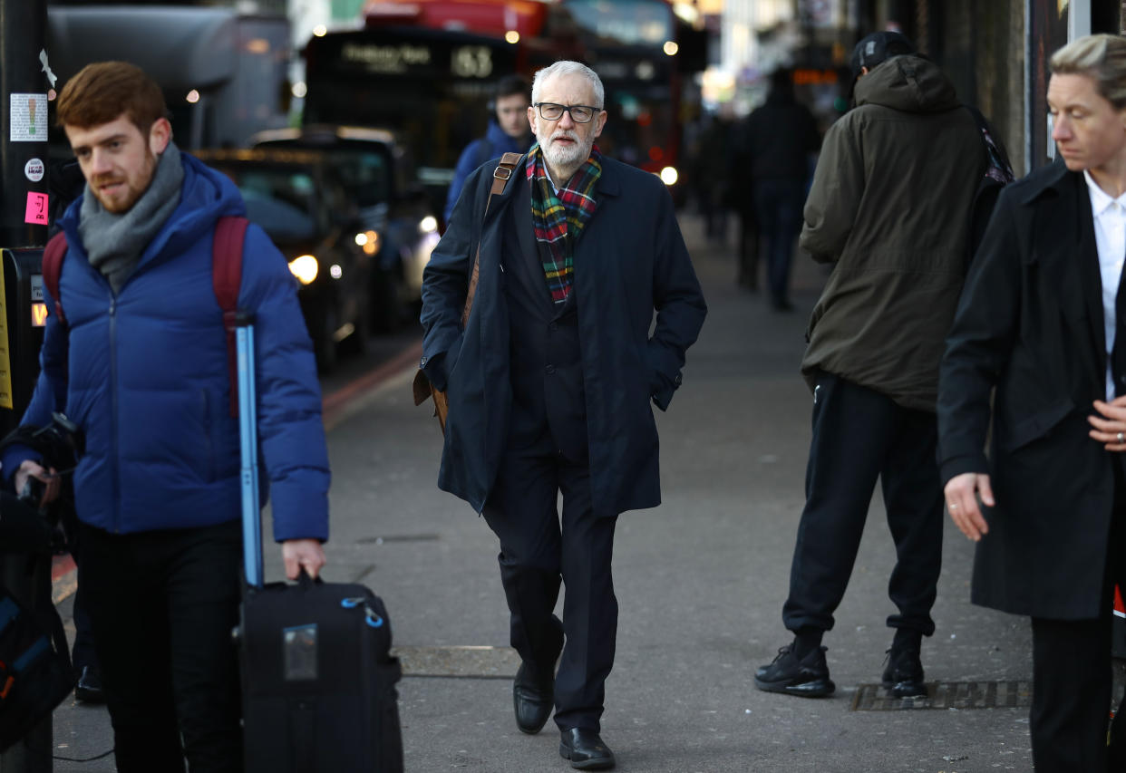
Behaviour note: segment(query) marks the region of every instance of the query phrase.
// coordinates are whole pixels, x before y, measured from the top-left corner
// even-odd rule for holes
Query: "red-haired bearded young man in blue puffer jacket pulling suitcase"
[[[212,285],[234,185],[171,142],[160,88],[123,62],[63,88],[57,118],[87,187],[61,221],[69,245],[42,371],[23,424],[63,410],[86,451],[74,470],[79,583],[101,662],[122,773],[241,771],[239,424]],[[285,259],[251,225],[239,308],[254,315],[258,431],[286,574],[315,576],[329,469],[309,334]],[[2,459],[20,491],[57,476],[27,451]],[[15,473],[15,475],[12,475]]]

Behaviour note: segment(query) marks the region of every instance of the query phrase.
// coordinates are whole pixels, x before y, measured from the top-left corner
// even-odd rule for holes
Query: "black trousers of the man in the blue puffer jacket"
[[[242,770],[242,532],[111,534],[83,525],[84,588],[119,773]],[[182,739],[182,744],[181,744]]]

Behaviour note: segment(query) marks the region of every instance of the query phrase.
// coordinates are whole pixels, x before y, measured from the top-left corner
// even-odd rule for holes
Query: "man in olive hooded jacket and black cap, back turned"
[[[814,260],[834,267],[802,362],[813,389],[813,439],[783,608],[795,638],[754,682],[795,695],[833,692],[821,639],[833,627],[879,478],[897,559],[883,681],[904,698],[926,693],[920,644],[935,632],[942,540],[938,363],[986,152],[950,81],[903,35],[860,41],[852,72],[856,108],[825,135],[801,237]]]

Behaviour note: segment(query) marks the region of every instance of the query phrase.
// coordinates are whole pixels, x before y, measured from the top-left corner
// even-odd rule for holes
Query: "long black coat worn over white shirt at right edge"
[[[997,498],[977,546],[975,603],[1056,619],[1102,611],[1121,458],[1088,437],[1092,401],[1106,399],[1101,287],[1083,174],[1054,164],[1008,186],[939,379],[942,480],[989,473]]]

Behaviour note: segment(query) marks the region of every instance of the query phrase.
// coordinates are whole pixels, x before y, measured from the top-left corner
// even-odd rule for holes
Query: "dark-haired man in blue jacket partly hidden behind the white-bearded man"
[[[519,75],[502,78],[497,83],[493,98],[489,100],[489,113],[485,136],[466,145],[454,168],[454,179],[449,183],[446,209],[443,212],[447,224],[465,180],[474,169],[506,153],[524,153],[534,140],[528,131],[528,82]]]

